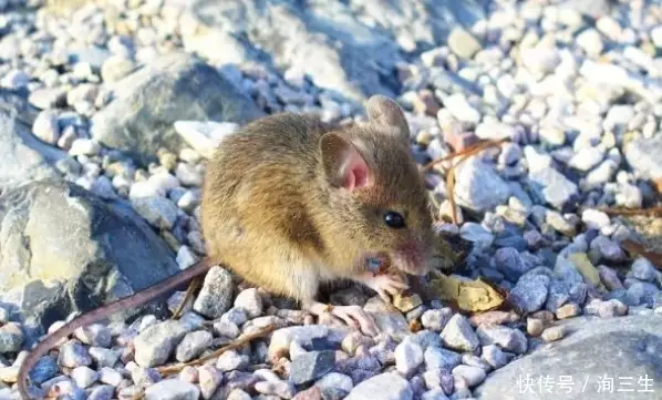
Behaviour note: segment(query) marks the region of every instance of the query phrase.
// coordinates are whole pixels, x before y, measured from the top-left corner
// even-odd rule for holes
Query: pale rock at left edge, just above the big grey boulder
[[[39,110],[0,89],[0,193],[28,181],[59,176],[53,164],[66,154],[32,134]]]

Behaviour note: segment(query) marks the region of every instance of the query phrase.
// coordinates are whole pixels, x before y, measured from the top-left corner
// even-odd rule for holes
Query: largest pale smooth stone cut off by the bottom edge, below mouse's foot
[[[385,372],[356,384],[344,400],[412,400],[414,391],[401,376]]]

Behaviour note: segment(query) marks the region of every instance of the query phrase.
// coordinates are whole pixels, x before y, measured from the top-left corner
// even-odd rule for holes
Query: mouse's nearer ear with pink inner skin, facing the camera
[[[320,140],[322,164],[329,183],[352,191],[371,182],[371,171],[359,150],[337,133],[327,133]]]

